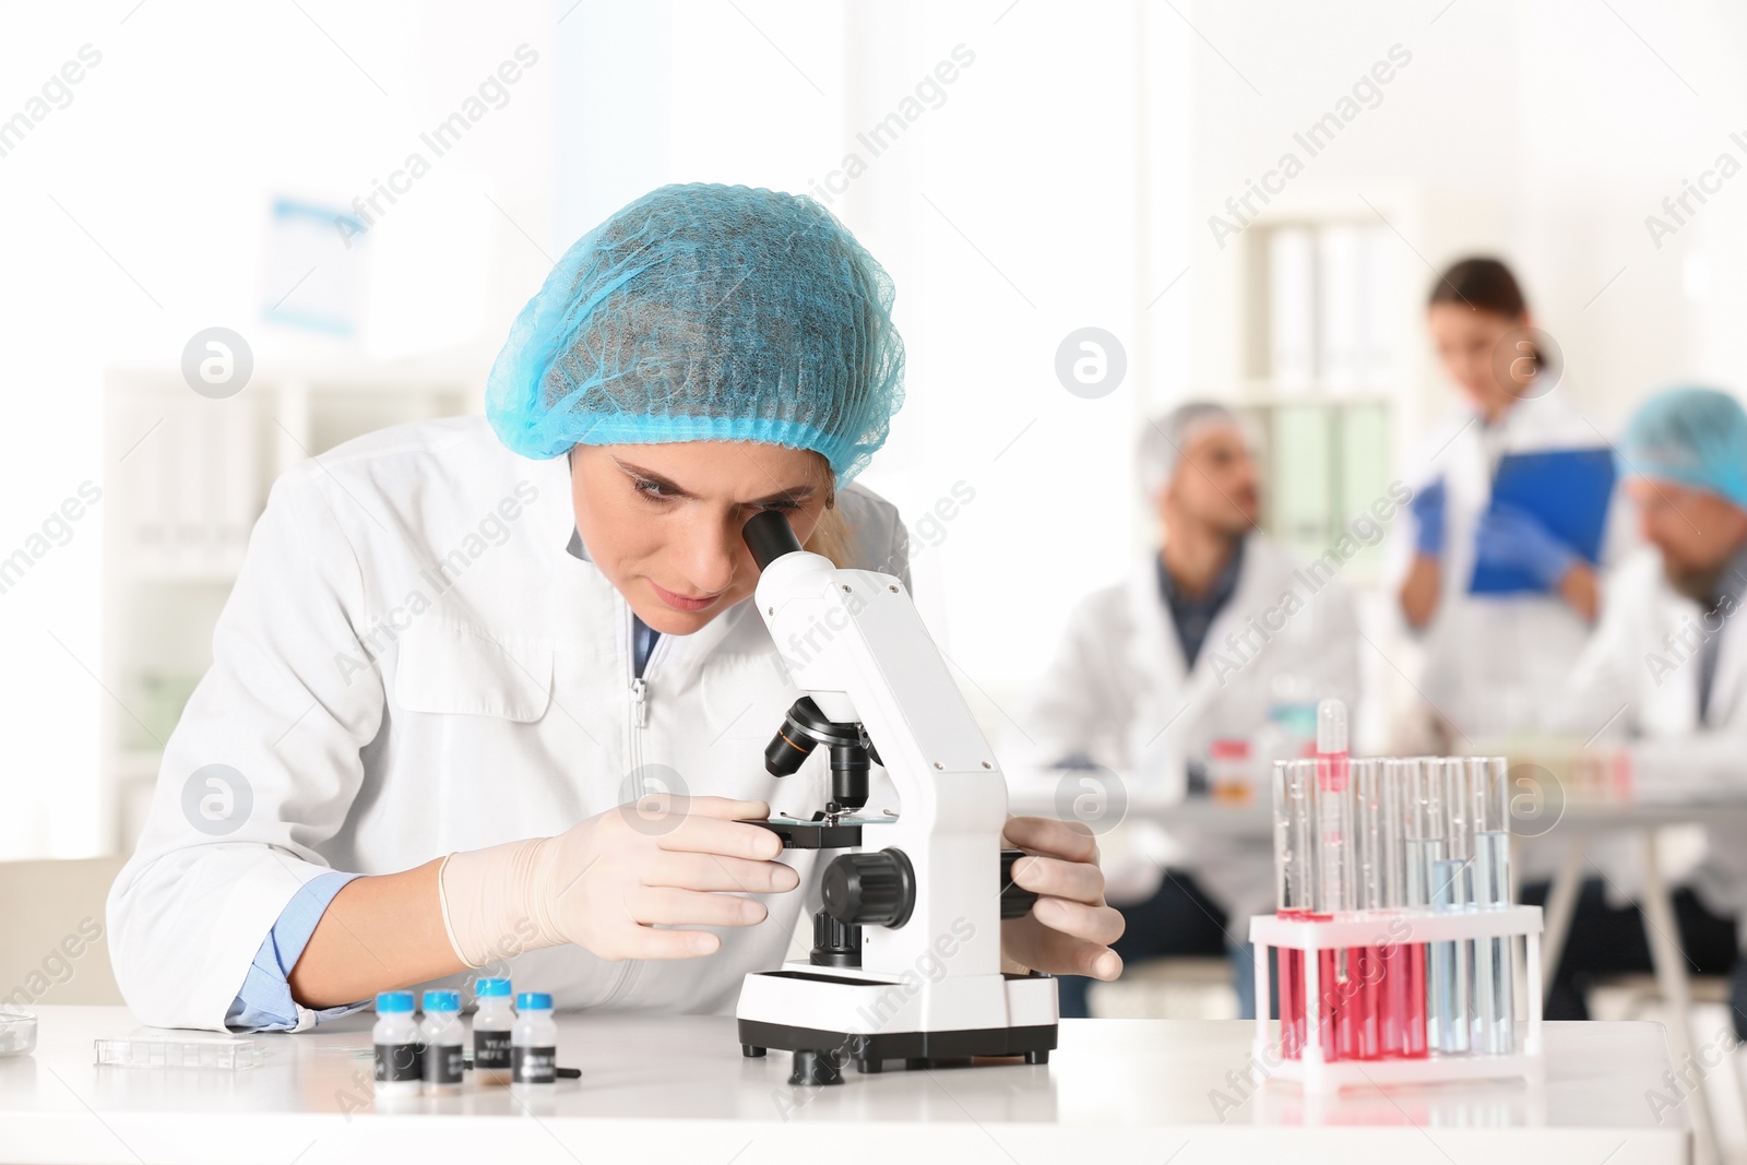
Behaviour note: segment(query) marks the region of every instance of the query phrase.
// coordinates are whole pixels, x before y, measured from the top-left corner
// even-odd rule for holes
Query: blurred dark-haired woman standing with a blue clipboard
[[[1466,259],[1445,271],[1426,321],[1464,400],[1408,463],[1415,520],[1394,555],[1398,599],[1426,632],[1420,688],[1440,734],[1478,742],[1544,727],[1541,697],[1571,672],[1600,606],[1597,573],[1574,547],[1527,508],[1492,505],[1499,461],[1604,440],[1553,386],[1557,369],[1536,349],[1529,304],[1504,264]],[[1618,534],[1619,507],[1607,508]],[[1529,585],[1474,594],[1476,564]]]

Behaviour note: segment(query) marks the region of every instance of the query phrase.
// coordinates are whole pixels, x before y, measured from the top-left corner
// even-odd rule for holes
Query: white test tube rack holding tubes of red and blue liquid
[[[1305,1043],[1296,1058],[1286,1057],[1281,1041],[1270,1039],[1274,1022],[1267,1001],[1272,996],[1268,950],[1350,950],[1398,943],[1450,943],[1488,938],[1516,938],[1525,943],[1527,1025],[1518,1031],[1516,1051],[1443,1055],[1431,1051],[1420,1058],[1329,1060],[1321,1032],[1329,997],[1317,982],[1317,959],[1303,959]],[[1254,915],[1249,941],[1256,952],[1256,1062],[1268,1069],[1268,1079],[1298,1081],[1305,1092],[1340,1092],[1342,1088],[1378,1085],[1426,1085],[1455,1079],[1522,1078],[1541,1085],[1546,1057],[1541,1043],[1541,908],[1490,906],[1462,912],[1433,910],[1359,910],[1328,919],[1293,919]],[[1312,1003],[1314,1001],[1314,1003]]]

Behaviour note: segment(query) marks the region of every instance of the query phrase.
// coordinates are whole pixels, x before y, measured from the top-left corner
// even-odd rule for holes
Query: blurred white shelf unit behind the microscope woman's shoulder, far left
[[[229,398],[194,393],[178,367],[105,376],[103,837],[129,852],[236,582],[273,480],[353,437],[482,409],[484,370],[463,360],[260,367]]]

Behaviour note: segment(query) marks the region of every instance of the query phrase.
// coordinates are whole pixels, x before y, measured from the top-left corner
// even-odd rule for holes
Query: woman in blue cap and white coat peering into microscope
[[[776,968],[818,854],[749,824],[807,789],[763,767],[795,690],[741,527],[905,571],[849,487],[903,398],[891,299],[811,199],[664,187],[517,316],[489,428],[287,473],[110,893],[135,1013],[302,1031],[505,959],[559,1006],[722,1011]],[[1092,838],[1006,837],[1041,894],[1006,957],[1115,978]]]

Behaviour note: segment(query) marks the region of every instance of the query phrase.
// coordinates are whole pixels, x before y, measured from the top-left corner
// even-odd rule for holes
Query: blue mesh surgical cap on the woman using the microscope
[[[669,185],[571,246],[491,369],[486,416],[528,458],[751,440],[839,484],[886,444],[903,341],[886,271],[809,197]]]

